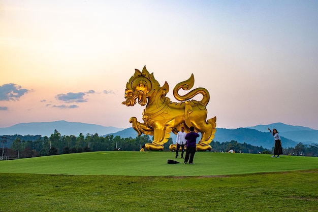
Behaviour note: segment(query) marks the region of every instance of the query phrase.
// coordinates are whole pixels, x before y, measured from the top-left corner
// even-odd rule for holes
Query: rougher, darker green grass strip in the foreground
[[[2,173],[0,211],[316,211],[318,169],[222,177]]]

